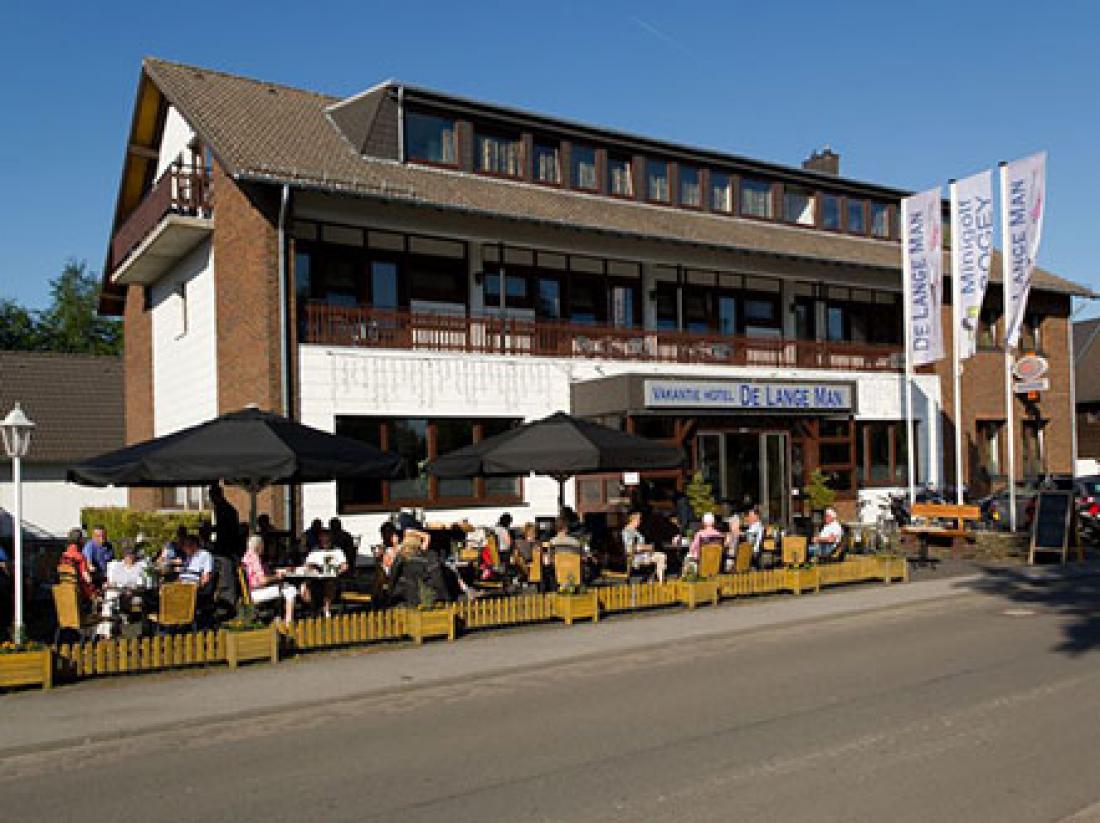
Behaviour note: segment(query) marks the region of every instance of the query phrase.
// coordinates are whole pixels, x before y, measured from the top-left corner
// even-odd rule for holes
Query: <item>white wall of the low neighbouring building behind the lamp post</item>
[[[89,489],[65,482],[65,467],[23,464],[23,520],[64,537],[80,525],[80,509],[87,506],[124,506],[125,489]],[[0,468],[0,508],[14,511],[11,463]]]

